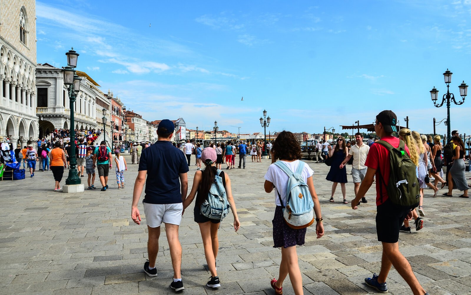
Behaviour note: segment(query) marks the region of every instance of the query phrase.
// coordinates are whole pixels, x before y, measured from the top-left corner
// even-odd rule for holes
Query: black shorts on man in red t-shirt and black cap
[[[409,208],[398,206],[389,199],[377,206],[376,234],[378,235],[378,241],[397,243],[399,241],[399,229],[409,212]]]

